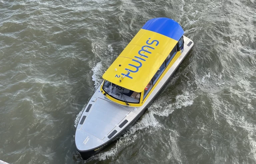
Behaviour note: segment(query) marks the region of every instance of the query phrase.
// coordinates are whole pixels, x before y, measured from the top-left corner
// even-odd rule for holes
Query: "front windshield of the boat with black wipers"
[[[120,101],[124,101],[127,105],[129,105],[128,103],[140,102],[140,93],[123,88],[107,80],[105,80],[102,89],[106,92],[105,94],[108,94]]]

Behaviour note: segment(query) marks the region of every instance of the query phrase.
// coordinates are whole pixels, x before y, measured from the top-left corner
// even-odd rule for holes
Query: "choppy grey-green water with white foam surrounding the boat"
[[[255,0],[1,0],[0,13],[1,160],[256,163]],[[83,161],[80,112],[155,17],[178,21],[195,46],[139,122]]]

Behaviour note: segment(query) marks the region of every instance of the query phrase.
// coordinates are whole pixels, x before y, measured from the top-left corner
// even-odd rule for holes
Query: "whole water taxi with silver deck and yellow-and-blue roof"
[[[76,127],[84,160],[123,135],[161,93],[194,46],[183,34],[172,19],[150,19],[105,71]]]

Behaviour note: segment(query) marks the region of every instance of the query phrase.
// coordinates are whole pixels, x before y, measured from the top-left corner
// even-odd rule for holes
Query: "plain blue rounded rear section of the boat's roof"
[[[174,40],[179,40],[184,31],[176,21],[170,18],[154,18],[146,22],[142,29],[165,35]]]

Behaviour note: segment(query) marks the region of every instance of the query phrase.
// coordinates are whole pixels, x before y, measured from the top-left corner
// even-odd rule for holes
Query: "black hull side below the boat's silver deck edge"
[[[103,149],[105,149],[107,147],[107,145],[110,145],[111,143],[113,143],[114,141],[116,141],[118,138],[120,138],[123,134],[125,134],[143,115],[144,113],[147,111],[148,107],[156,100],[156,98],[160,95],[160,93],[162,92],[162,90],[164,89],[164,87],[166,86],[166,84],[169,82],[170,78],[172,77],[172,75],[176,72],[176,70],[179,68],[180,64],[183,62],[183,60],[187,57],[187,55],[190,53],[191,49],[194,47],[194,45],[190,48],[190,50],[187,52],[186,56],[184,56],[184,58],[182,59],[182,61],[179,63],[179,65],[176,67],[176,69],[173,71],[173,73],[170,75],[170,77],[168,78],[168,80],[166,80],[166,82],[164,83],[164,85],[160,88],[160,90],[156,93],[156,95],[152,98],[152,100],[148,103],[148,105],[140,112],[139,115],[137,115],[132,122],[130,122],[128,124],[128,126],[123,129],[122,131],[120,131],[115,137],[113,137],[112,139],[108,140],[106,143],[104,143],[103,145],[100,145],[94,149],[90,149],[90,150],[78,150],[76,147],[76,150],[81,154],[81,157],[83,158],[83,160],[87,160],[89,159],[91,156],[99,153],[100,151],[102,151]]]

